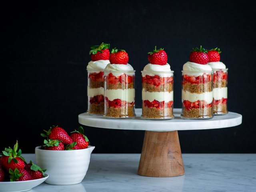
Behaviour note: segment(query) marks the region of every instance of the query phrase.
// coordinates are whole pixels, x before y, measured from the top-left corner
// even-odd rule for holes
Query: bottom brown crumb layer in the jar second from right
[[[204,108],[194,108],[186,110],[185,107],[182,108],[182,117],[184,118],[209,118],[213,117],[212,107]]]

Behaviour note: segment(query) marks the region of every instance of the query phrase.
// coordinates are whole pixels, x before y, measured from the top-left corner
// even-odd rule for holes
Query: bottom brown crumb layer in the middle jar
[[[173,108],[171,107],[164,110],[159,110],[156,107],[148,108],[142,104],[142,117],[152,119],[173,118]]]

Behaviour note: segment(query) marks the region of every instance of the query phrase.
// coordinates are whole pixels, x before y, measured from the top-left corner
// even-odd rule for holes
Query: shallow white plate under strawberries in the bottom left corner
[[[44,174],[44,176],[44,178],[29,181],[0,182],[0,191],[22,192],[31,190],[49,177],[48,174]]]

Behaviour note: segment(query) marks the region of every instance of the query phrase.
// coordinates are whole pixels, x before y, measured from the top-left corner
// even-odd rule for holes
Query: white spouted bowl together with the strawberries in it
[[[47,168],[49,178],[46,183],[53,185],[72,185],[80,183],[88,170],[90,156],[95,146],[90,146],[82,127],[78,131],[67,132],[52,126],[46,134],[44,145],[35,149],[36,163],[42,169]]]

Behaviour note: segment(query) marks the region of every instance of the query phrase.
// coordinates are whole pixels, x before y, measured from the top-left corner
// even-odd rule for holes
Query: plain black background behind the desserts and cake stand
[[[179,131],[183,153],[255,153],[255,11],[234,1],[13,1],[1,3],[0,147],[18,140],[33,153],[52,125],[68,133],[86,112],[90,46],[124,49],[136,70],[136,108],[147,52],[164,48],[181,108],[181,70],[192,48],[220,48],[228,70],[228,110],[240,126]],[[94,153],[140,153],[144,131],[83,126]]]

